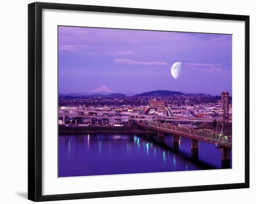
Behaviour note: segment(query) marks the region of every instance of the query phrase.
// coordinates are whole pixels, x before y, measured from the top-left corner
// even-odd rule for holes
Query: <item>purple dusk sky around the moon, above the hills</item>
[[[232,35],[59,26],[59,93],[232,94]],[[178,79],[171,66],[182,62]]]

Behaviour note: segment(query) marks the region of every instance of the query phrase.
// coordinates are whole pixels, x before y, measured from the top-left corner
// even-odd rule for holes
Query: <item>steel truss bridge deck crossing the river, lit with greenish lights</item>
[[[232,136],[225,136],[216,131],[208,129],[195,130],[192,127],[176,126],[170,123],[161,123],[157,121],[135,121],[135,123],[144,128],[209,142],[229,149],[232,148]]]

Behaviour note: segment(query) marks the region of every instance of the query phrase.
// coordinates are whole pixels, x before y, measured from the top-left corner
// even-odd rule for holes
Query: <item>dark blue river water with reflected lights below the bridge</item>
[[[146,134],[59,136],[59,177],[221,169],[221,151],[200,142],[191,152],[189,138],[172,143]]]

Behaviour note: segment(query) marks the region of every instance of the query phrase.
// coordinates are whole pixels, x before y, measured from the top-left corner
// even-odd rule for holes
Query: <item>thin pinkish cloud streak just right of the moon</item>
[[[210,64],[210,63],[184,63],[184,67],[187,68],[201,68],[203,72],[229,72],[222,69],[222,64]]]

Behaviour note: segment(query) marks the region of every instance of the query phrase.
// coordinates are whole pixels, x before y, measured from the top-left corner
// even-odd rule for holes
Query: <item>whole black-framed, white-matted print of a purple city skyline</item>
[[[249,16],[28,5],[28,199],[249,188]]]

